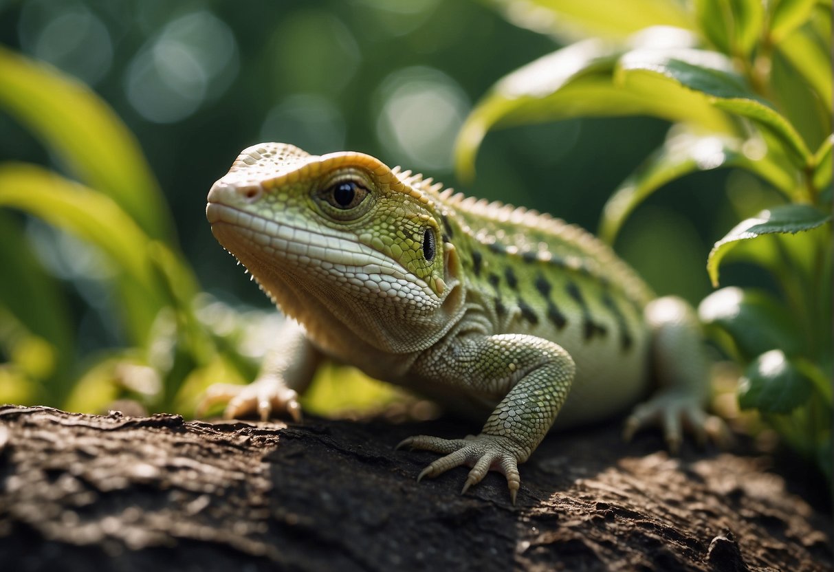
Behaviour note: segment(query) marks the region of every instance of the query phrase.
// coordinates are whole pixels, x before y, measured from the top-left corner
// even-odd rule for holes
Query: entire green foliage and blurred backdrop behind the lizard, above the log
[[[741,262],[702,317],[741,405],[830,474],[830,3],[0,0],[0,44],[0,402],[188,412],[252,379],[277,318],[204,198],[286,141],[603,211],[693,303]]]

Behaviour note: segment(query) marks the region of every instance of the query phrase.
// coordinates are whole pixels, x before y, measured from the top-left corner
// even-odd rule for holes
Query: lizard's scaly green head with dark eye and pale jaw
[[[244,149],[208,193],[215,238],[284,313],[374,348],[430,345],[462,311],[437,186],[363,153]],[[415,329],[420,334],[415,335]]]

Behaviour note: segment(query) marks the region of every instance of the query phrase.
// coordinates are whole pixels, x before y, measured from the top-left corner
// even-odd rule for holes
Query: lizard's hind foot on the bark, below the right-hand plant
[[[665,391],[639,404],[625,419],[623,439],[631,440],[640,429],[649,425],[661,425],[666,446],[672,453],[677,453],[683,440],[682,429],[686,427],[703,447],[708,440],[722,448],[731,443],[730,430],[724,421],[714,415],[705,413],[701,399],[681,392]]]

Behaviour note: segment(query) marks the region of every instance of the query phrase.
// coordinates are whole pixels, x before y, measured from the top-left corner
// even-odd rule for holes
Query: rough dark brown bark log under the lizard
[[[766,455],[551,434],[513,507],[499,474],[461,496],[465,469],[417,484],[435,456],[392,450],[473,429],[0,408],[0,568],[834,569],[830,515]]]

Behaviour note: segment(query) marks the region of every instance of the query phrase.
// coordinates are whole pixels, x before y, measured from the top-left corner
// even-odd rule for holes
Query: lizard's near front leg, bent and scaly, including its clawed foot
[[[418,477],[435,477],[460,465],[472,467],[462,493],[488,471],[504,474],[510,499],[520,487],[518,464],[540,444],[565,403],[575,374],[570,355],[558,344],[523,334],[472,336],[452,344],[440,355],[426,354],[420,374],[500,403],[480,434],[465,439],[417,435],[397,447],[409,446],[445,454]]]

